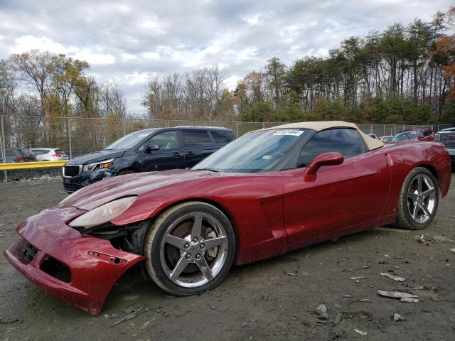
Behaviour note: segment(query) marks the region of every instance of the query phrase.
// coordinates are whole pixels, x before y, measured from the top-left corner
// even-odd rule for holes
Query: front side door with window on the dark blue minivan
[[[148,150],[158,145],[158,150]],[[185,156],[178,143],[177,131],[163,131],[146,142],[144,168],[146,172],[185,168]]]

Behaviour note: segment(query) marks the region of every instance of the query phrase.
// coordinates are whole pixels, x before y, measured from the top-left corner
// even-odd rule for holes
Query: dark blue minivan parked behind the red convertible
[[[235,139],[230,129],[176,126],[123,136],[102,151],[73,158],[63,167],[68,193],[115,175],[191,168]]]

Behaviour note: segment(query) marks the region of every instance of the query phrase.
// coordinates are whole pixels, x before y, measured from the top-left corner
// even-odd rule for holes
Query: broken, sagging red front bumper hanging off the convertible
[[[81,235],[68,227],[68,221],[84,212],[58,207],[29,217],[16,229],[21,239],[4,255],[46,293],[96,315],[114,283],[145,257],[120,251],[105,239]],[[60,267],[66,276],[54,273],[53,266]]]

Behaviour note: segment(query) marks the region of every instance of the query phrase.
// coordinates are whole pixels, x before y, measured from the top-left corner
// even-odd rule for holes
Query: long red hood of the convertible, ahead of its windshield
[[[119,197],[141,195],[141,193],[166,185],[217,176],[221,176],[220,173],[184,169],[122,175],[107,178],[77,190],[60,202],[60,205],[71,205],[81,210],[92,210]]]

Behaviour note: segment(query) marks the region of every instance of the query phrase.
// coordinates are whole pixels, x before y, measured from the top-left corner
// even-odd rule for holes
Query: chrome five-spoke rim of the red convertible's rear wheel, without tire
[[[407,208],[414,222],[424,224],[432,217],[436,199],[432,178],[426,174],[417,174],[407,190]]]

